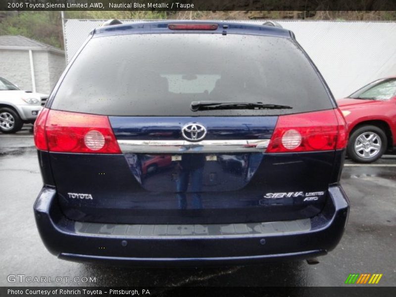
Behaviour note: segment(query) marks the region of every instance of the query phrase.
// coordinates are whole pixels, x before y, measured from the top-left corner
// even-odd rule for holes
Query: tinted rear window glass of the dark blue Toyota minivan
[[[199,110],[192,101],[263,102],[291,109]],[[321,80],[290,39],[219,34],[93,38],[51,108],[106,115],[275,115],[332,108]]]

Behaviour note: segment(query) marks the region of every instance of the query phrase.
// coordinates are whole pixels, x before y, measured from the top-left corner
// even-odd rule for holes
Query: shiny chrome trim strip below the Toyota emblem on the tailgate
[[[264,152],[269,139],[253,140],[118,140],[123,153]]]

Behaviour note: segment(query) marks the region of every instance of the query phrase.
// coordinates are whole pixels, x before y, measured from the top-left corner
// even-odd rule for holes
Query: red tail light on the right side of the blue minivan
[[[339,109],[281,115],[266,152],[345,148],[345,120]]]

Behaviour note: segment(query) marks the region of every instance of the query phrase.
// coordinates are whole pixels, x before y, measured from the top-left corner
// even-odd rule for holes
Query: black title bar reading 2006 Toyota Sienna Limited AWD
[[[396,10],[396,0],[1,0],[0,10]]]

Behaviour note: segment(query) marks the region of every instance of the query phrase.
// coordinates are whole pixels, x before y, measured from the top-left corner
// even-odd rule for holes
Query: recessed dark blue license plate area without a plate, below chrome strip
[[[151,192],[197,193],[240,190],[262,153],[126,154],[136,180]]]

